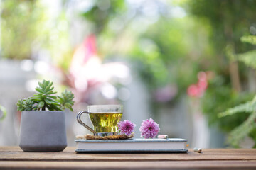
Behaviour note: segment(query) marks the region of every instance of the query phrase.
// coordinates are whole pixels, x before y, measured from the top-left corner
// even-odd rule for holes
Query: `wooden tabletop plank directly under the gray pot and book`
[[[0,161],[196,161],[196,160],[256,160],[256,149],[203,149],[202,153],[188,149],[186,154],[76,154],[75,147],[63,152],[23,152],[19,147],[0,147]]]

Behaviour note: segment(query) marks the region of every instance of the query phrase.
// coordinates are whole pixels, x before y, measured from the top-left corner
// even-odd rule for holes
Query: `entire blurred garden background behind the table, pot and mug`
[[[18,145],[19,98],[38,80],[124,105],[190,147],[256,147],[255,0],[1,0],[0,145]],[[89,122],[88,119],[84,118]]]

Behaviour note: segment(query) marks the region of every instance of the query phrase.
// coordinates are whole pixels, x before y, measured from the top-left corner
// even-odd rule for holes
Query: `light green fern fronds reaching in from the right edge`
[[[256,36],[244,36],[241,38],[242,42],[249,42],[255,44]],[[239,60],[244,62],[248,67],[256,68],[255,62],[256,53],[255,50],[245,52],[243,54],[233,54],[233,60]],[[255,70],[254,70],[255,72]],[[255,94],[255,93],[254,93]],[[240,95],[241,96],[241,95]],[[246,101],[246,103],[245,103]],[[252,137],[255,140],[254,147],[256,148],[256,97],[253,99],[247,99],[243,104],[236,104],[233,108],[228,108],[226,111],[219,113],[218,116],[221,118],[220,121],[225,119],[232,120],[239,118],[240,122],[232,122],[231,125],[235,125],[230,129],[228,142],[234,147],[239,147],[240,142],[246,137]]]

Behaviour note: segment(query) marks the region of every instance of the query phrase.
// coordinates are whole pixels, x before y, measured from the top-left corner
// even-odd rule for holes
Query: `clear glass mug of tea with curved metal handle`
[[[122,118],[122,105],[89,105],[87,111],[80,111],[77,115],[78,123],[90,130],[95,136],[118,135],[117,123]],[[93,128],[81,120],[81,115],[87,113]]]

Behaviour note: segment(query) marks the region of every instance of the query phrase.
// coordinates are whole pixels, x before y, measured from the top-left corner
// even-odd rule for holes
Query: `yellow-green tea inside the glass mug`
[[[90,113],[90,120],[96,132],[117,132],[117,123],[122,113]]]

